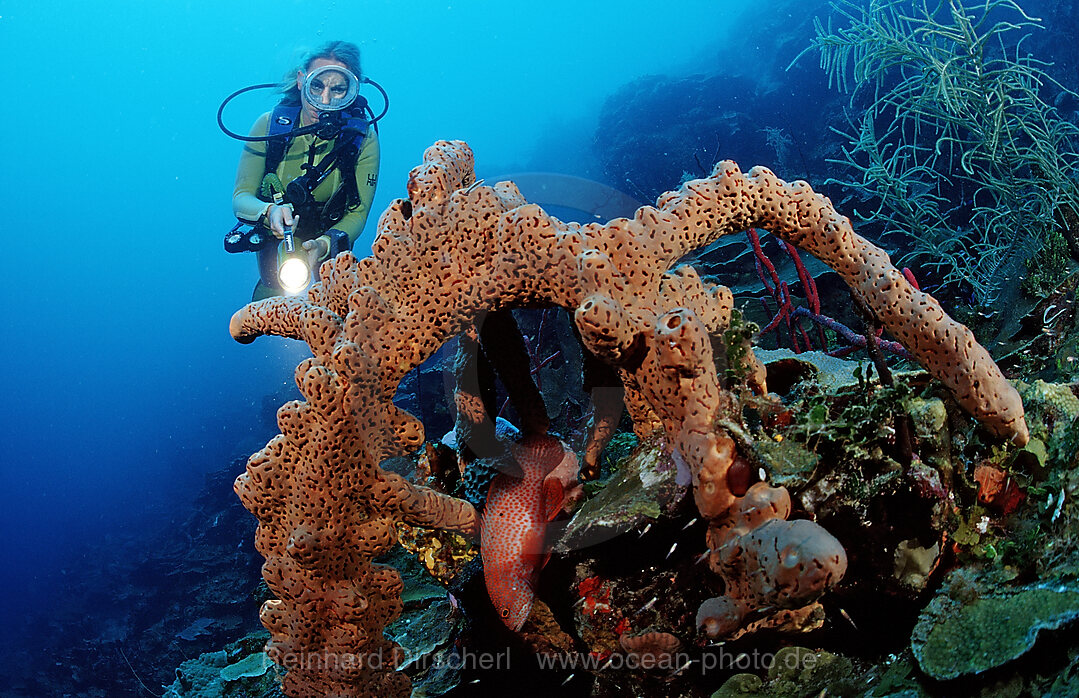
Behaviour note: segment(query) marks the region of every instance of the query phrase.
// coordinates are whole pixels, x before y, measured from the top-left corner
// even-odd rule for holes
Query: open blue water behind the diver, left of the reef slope
[[[792,38],[761,33],[754,14],[804,19],[805,3],[751,5],[0,3],[0,622],[45,624],[87,549],[181,520],[206,473],[261,446],[263,396],[305,355],[228,333],[256,272],[221,246],[240,153],[215,121],[224,96],[279,79],[327,40],[360,46],[391,96],[363,254],[436,139],[467,140],[481,177],[599,178],[588,147],[618,86],[654,73],[755,79],[808,40],[781,45]],[[229,125],[246,132],[271,106],[270,93],[245,96]]]

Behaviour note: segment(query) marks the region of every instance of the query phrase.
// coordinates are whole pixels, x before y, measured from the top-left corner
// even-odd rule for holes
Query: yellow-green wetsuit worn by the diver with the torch
[[[265,136],[270,123],[270,112],[259,117],[251,127],[251,136]],[[288,186],[303,170],[300,165],[308,162],[308,149],[314,143],[315,163],[322,161],[326,153],[333,146],[331,140],[316,138],[314,134],[297,136],[288,146],[288,151],[277,166],[277,176],[283,184]],[[232,211],[236,218],[242,218],[250,222],[258,221],[262,211],[265,210],[267,202],[258,196],[259,188],[262,184],[262,177],[265,174],[265,143],[250,142],[244,145],[244,152],[240,156],[240,167],[236,169],[236,187],[232,192]],[[371,211],[371,203],[374,200],[374,188],[379,177],[379,138],[374,128],[368,128],[364,138],[359,158],[356,161],[356,188],[359,191],[359,206],[345,214],[344,218],[333,225],[349,236],[349,246],[352,247],[359,237],[367,222],[367,216]],[[341,173],[334,167],[326,179],[314,191],[314,196],[319,202],[325,202],[330,197],[341,183]],[[300,224],[305,221],[301,218]],[[312,222],[312,221],[306,221]],[[320,231],[322,232],[322,231]],[[261,278],[255,287],[251,300],[259,300],[270,296],[282,293],[277,286],[277,246],[270,245],[258,251],[259,272]],[[315,272],[317,274],[317,270]],[[269,280],[269,283],[268,283]]]

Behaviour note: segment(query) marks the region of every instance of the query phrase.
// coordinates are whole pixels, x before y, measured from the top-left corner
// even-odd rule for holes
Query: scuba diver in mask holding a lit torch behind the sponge
[[[221,102],[218,125],[245,141],[232,195],[240,222],[224,247],[258,255],[252,301],[303,291],[317,280],[318,265],[352,249],[364,230],[379,177],[377,122],[390,101],[381,86],[359,76],[359,50],[333,41],[304,58],[250,135],[226,128],[226,105],[244,92],[281,85],[244,87]],[[378,117],[359,95],[361,84],[382,94],[385,108]]]

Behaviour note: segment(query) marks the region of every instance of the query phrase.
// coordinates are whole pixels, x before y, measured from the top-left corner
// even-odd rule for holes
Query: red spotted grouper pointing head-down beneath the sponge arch
[[[500,473],[491,482],[480,519],[480,556],[491,603],[516,632],[532,612],[536,576],[547,561],[547,522],[562,509],[564,490],[551,471],[572,452],[545,435],[527,436],[509,451],[524,478]]]

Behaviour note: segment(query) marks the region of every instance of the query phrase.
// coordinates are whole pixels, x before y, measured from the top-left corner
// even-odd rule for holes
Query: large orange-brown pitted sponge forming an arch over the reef
[[[400,380],[484,312],[573,311],[585,346],[617,369],[638,433],[663,430],[689,468],[701,515],[722,530],[739,499],[727,484],[738,454],[716,426],[726,398],[710,336],[726,327],[733,299],[692,268],[669,270],[750,227],[833,266],[968,411],[1026,440],[1017,394],[970,331],[808,184],[722,162],[632,219],[582,225],[527,204],[513,183],[480,186],[470,149],[439,141],[412,170],[408,199],[379,220],[372,256],[339,255],[306,298],[252,303],[230,325],[241,342],[278,334],[313,353],[297,369],[306,401],[281,409],[282,434],[236,481],[260,521],[257,546],[277,597],[262,619],[271,657],[289,669],[287,693],[407,693],[381,633],[400,612],[400,580],[370,560],[394,544],[396,521],[470,532],[476,512],[378,466],[423,443],[423,426],[393,405]]]

